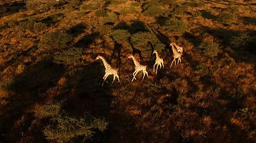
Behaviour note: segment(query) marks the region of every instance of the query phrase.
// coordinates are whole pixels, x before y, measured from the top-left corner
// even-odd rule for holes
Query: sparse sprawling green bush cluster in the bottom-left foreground
[[[36,110],[35,115],[49,118],[50,124],[46,125],[43,133],[49,141],[66,142],[82,137],[86,141],[95,132],[106,130],[108,122],[104,119],[94,118],[89,113],[82,117],[74,117],[61,110],[61,103],[51,103]],[[81,140],[81,141],[82,141]]]

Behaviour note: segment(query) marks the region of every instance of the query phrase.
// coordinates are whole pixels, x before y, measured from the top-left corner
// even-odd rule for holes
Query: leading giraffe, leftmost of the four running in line
[[[103,61],[103,64],[104,64],[104,66],[106,68],[105,69],[105,76],[103,77],[104,81],[103,81],[101,87],[103,87],[103,84],[104,84],[105,80],[107,79],[107,77],[109,75],[113,75],[113,81],[112,81],[111,85],[113,84],[113,82],[116,79],[116,77],[118,78],[118,81],[120,82],[119,76],[117,74],[118,73],[118,69],[111,67],[111,65],[108,64],[108,62],[106,61],[106,59],[103,56],[98,55],[95,60],[98,60],[98,59],[101,59]],[[106,82],[108,83],[108,81],[106,81]]]

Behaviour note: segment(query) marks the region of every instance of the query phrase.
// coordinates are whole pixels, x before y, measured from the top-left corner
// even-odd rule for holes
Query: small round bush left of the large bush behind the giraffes
[[[124,41],[129,39],[130,33],[127,30],[114,30],[111,36],[114,41],[122,44]]]

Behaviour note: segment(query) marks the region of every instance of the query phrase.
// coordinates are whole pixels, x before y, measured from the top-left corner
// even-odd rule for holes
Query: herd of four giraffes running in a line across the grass
[[[178,46],[178,45],[176,45],[174,42],[171,42],[170,46],[172,47],[172,52],[173,52],[173,61],[172,61],[172,64],[173,64],[173,62],[175,62],[175,65],[178,65],[178,62],[179,62],[179,61],[181,62],[181,56],[183,55],[183,48],[180,47],[180,46]],[[159,68],[159,69],[161,69],[162,66],[163,66],[163,68],[164,68],[164,65],[163,65],[163,59],[159,57],[159,55],[158,55],[158,53],[157,53],[156,50],[153,50],[153,54],[154,54],[154,53],[156,54],[156,63],[153,65],[153,72],[155,72],[155,66],[157,66],[157,68],[156,68],[156,74],[157,74],[158,66],[160,65],[160,68]],[[146,65],[140,64],[140,63],[134,58],[133,55],[130,55],[128,58],[132,58],[133,63],[134,63],[134,65],[135,65],[135,71],[134,71],[134,73],[133,73],[133,79],[132,79],[132,81],[133,81],[134,79],[136,80],[135,76],[138,74],[138,72],[139,72],[140,70],[143,71],[143,78],[142,78],[142,79],[144,79],[145,75],[148,76],[148,72],[146,71],[146,68],[147,68]],[[113,75],[113,81],[112,81],[112,83],[114,82],[114,80],[116,79],[116,77],[118,78],[118,81],[120,82],[119,76],[118,76],[118,69],[117,69],[117,68],[114,68],[114,67],[112,67],[110,64],[108,64],[108,62],[106,61],[106,59],[105,59],[103,56],[98,55],[95,60],[98,60],[98,59],[101,59],[101,60],[103,61],[104,66],[105,66],[105,75],[104,75],[104,77],[103,77],[104,81],[103,81],[103,83],[102,83],[101,86],[103,86],[104,82],[106,81],[106,79],[107,79],[107,77],[108,77],[109,75]],[[176,59],[178,59],[177,64],[176,64]],[[171,64],[170,67],[172,67],[172,64]],[[106,81],[106,82],[107,82],[107,81]],[[107,83],[108,83],[108,82],[107,82]]]

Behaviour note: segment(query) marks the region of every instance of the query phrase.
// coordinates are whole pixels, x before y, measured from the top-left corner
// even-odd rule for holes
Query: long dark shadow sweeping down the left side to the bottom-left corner
[[[32,67],[26,68],[23,73],[15,77],[7,87],[8,91],[12,91],[13,96],[8,97],[8,104],[3,107],[5,110],[2,110],[5,116],[0,117],[1,121],[5,123],[4,133],[7,134],[1,139],[2,141],[16,142],[23,135],[30,134],[29,127],[34,115],[33,113],[31,115],[28,110],[31,110],[35,104],[43,102],[41,93],[54,87],[62,74],[62,66],[54,64],[50,60],[42,60]],[[17,124],[23,117],[25,118],[22,124]],[[39,140],[44,140],[42,132],[39,134]]]

